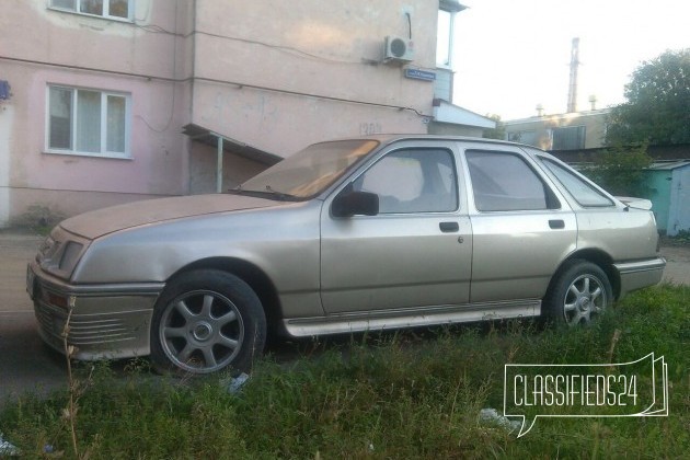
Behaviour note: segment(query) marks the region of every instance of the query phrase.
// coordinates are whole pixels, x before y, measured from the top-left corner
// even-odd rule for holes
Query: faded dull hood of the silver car
[[[156,222],[280,205],[285,203],[225,194],[147,199],[84,212],[64,220],[60,227],[93,240],[118,230]]]

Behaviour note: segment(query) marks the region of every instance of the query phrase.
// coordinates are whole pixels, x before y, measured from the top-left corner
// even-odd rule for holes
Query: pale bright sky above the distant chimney
[[[461,0],[453,103],[503,120],[566,112],[571,46],[579,37],[577,108],[625,102],[643,61],[690,47],[690,0]]]

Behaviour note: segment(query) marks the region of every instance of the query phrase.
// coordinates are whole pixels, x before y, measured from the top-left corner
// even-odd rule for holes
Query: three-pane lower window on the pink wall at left
[[[129,158],[130,96],[96,90],[48,88],[48,151]]]

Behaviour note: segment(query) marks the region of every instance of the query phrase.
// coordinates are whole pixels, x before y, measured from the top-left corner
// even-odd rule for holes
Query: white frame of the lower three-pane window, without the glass
[[[69,90],[72,92],[72,103],[71,103],[71,148],[61,149],[50,147],[50,89],[57,88],[61,90]],[[89,92],[97,92],[101,94],[101,149],[99,152],[89,152],[77,150],[77,116],[79,111],[79,104],[77,103],[77,94],[79,91],[89,91]],[[115,152],[107,150],[107,97],[108,96],[117,96],[125,99],[125,151],[124,152]],[[130,150],[130,138],[131,138],[131,94],[118,92],[118,91],[107,91],[100,90],[94,88],[79,88],[79,87],[70,87],[66,84],[48,84],[46,85],[46,133],[45,133],[45,151],[46,153],[58,153],[58,154],[73,154],[80,157],[97,157],[97,158],[116,158],[116,159],[131,159],[131,150]]]

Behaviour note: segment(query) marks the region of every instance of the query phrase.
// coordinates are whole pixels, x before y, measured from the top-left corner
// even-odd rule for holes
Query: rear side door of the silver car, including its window
[[[469,146],[463,157],[474,234],[471,302],[542,298],[576,248],[574,212],[519,148]]]

